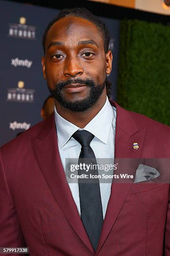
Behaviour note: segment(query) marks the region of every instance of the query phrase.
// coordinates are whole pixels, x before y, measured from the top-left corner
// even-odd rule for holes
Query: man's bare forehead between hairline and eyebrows
[[[61,40],[67,37],[85,37],[92,36],[95,40],[101,39],[100,32],[94,23],[84,18],[68,16],[58,20],[52,25],[47,33],[47,41],[53,41],[53,39]]]

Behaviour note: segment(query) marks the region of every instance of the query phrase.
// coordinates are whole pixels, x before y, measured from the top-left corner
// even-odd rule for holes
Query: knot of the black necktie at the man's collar
[[[90,142],[95,137],[92,133],[82,130],[76,131],[72,134],[72,137],[80,143],[82,147],[90,146]]]

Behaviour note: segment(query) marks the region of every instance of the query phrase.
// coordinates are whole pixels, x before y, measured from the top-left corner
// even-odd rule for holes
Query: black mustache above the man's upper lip
[[[76,79],[68,79],[67,81],[58,82],[57,84],[55,84],[55,88],[57,90],[61,90],[62,88],[64,88],[68,84],[85,84],[85,85],[90,86],[90,87],[95,87],[95,82],[92,79],[76,78]]]

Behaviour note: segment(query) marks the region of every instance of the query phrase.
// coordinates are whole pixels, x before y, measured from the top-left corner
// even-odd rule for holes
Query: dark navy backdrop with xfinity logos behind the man
[[[49,95],[42,76],[42,34],[60,10],[0,1],[0,146],[40,122]],[[103,19],[113,51],[112,99],[117,83],[119,21]]]

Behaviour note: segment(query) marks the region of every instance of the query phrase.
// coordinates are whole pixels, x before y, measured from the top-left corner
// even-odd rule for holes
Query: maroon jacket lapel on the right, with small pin
[[[146,131],[139,130],[129,111],[124,110],[111,100],[110,103],[116,107],[117,113],[114,163],[118,163],[118,165],[117,169],[114,170],[114,174],[120,176],[120,173],[128,174],[129,172],[129,174],[135,175],[135,171],[138,166],[135,165],[136,161],[133,159],[138,159],[140,157]],[[139,145],[137,150],[133,148],[133,143],[135,142],[137,142]],[[107,236],[109,235],[110,230],[115,223],[125,198],[128,195],[132,182],[133,179],[129,179],[126,182],[123,181],[123,179],[112,180],[110,199],[107,205],[107,211],[96,255],[99,253],[100,249],[105,243],[105,240],[107,239]]]

